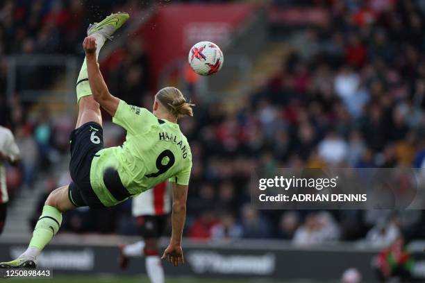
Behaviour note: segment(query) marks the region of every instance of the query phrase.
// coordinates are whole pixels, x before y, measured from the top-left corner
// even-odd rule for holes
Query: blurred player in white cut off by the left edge
[[[12,132],[0,126],[0,234],[6,224],[8,205],[8,189],[6,188],[5,162],[16,164],[20,159],[19,148],[15,143]]]

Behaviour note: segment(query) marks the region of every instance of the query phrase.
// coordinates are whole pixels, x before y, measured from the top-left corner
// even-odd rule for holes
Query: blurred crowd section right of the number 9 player
[[[182,121],[194,149],[190,237],[292,239],[302,246],[423,238],[421,211],[272,212],[249,204],[249,168],[415,167],[424,163],[423,1],[277,1],[331,21],[288,36],[279,74],[240,110]],[[192,135],[192,132],[194,135]]]

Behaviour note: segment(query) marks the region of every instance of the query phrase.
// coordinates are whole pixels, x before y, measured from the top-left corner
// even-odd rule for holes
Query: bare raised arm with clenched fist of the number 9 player
[[[104,110],[106,110],[106,112],[108,112],[111,116],[114,116],[119,105],[119,99],[110,94],[105,80],[103,80],[99,65],[97,65],[97,44],[94,37],[85,37],[83,48],[85,51],[88,78],[93,98]]]

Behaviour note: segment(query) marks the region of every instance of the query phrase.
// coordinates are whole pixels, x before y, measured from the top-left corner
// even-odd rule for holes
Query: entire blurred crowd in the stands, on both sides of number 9
[[[115,2],[122,4],[108,1]],[[195,117],[181,121],[193,155],[186,236],[287,239],[300,246],[337,240],[387,246],[401,234],[424,239],[422,211],[251,207],[248,184],[256,166],[425,167],[425,1],[274,2],[325,9],[330,21],[292,31],[279,73],[247,94],[238,110],[229,112],[226,101],[203,103],[192,93]],[[89,8],[78,0],[6,1],[0,5],[0,55],[81,53]],[[149,58],[138,44],[120,54],[106,76],[111,92],[151,108]],[[34,171],[67,154],[72,121],[52,121],[48,112],[31,117],[19,96],[6,103],[6,74],[0,65],[0,123],[15,131],[28,159],[24,182],[31,184]],[[49,181],[47,191],[57,183]],[[130,207],[127,202],[103,212],[78,209],[63,227],[132,234]],[[111,221],[96,220],[105,213]]]

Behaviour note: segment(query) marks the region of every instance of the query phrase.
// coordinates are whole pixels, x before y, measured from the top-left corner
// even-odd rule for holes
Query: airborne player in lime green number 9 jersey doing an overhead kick
[[[162,258],[174,266],[184,264],[181,238],[192,154],[177,119],[192,116],[192,104],[174,87],[160,89],[152,113],[110,94],[97,57],[106,39],[128,17],[119,12],[89,26],[83,42],[85,60],[76,84],[79,109],[70,140],[72,182],[49,195],[26,251],[13,261],[0,263],[0,268],[34,268],[36,257],[58,233],[63,212],[81,206],[117,205],[165,180],[172,182],[172,237]],[[103,147],[100,107],[127,130],[122,146]]]

